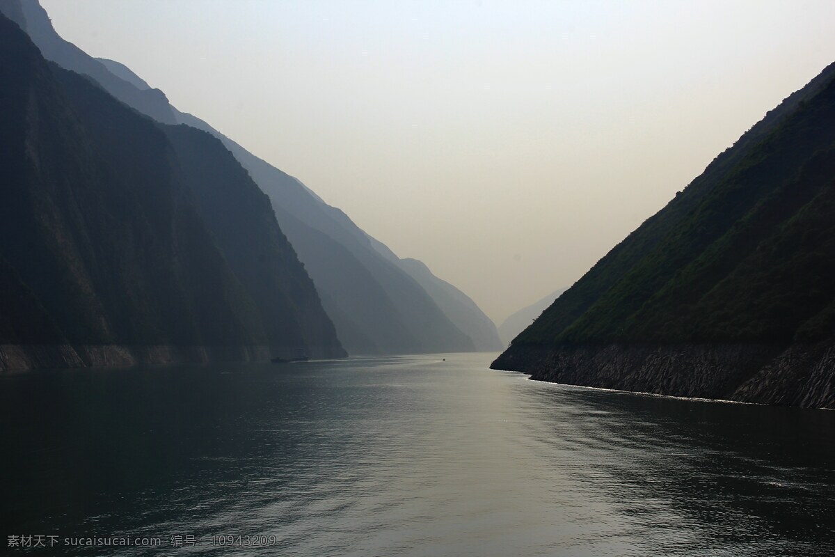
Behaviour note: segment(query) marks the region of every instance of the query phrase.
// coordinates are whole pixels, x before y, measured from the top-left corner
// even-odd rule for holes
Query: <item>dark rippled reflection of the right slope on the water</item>
[[[701,554],[832,554],[835,413],[540,387],[534,438],[600,453],[584,464],[647,529],[697,531]]]

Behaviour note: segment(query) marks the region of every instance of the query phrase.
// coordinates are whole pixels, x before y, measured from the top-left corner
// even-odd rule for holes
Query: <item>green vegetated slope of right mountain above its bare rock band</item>
[[[515,341],[832,335],[835,64],[601,259]]]

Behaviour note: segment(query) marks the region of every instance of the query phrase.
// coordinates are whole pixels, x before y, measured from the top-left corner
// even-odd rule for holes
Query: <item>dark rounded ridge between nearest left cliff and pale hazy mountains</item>
[[[256,301],[271,353],[342,357],[315,286],[279,228],[269,198],[218,139],[162,124],[185,185],[240,283]]]

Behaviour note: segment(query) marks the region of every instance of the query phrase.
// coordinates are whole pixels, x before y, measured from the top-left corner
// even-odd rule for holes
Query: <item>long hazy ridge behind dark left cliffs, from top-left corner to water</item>
[[[347,215],[327,205],[301,181],[257,158],[204,121],[175,109],[159,89],[149,89],[124,65],[91,58],[64,41],[37,0],[0,0],[0,10],[23,13],[23,27],[45,58],[89,75],[124,104],[160,123],[187,124],[220,139],[269,195],[281,230],[314,281],[349,352],[463,352],[476,349],[477,344],[489,346],[491,333],[483,332],[487,323],[478,315],[480,310],[468,312],[466,331],[457,327],[447,315],[449,309],[443,307],[447,296],[434,299],[399,258],[392,261],[383,256],[372,245],[373,239]],[[483,334],[487,337],[481,337]]]

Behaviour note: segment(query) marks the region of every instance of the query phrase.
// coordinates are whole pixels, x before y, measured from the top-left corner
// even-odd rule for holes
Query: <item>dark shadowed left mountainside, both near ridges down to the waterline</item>
[[[0,367],[345,355],[266,196],[220,142],[48,63],[2,15],[0,83]],[[253,234],[257,254],[237,253],[230,230]]]

